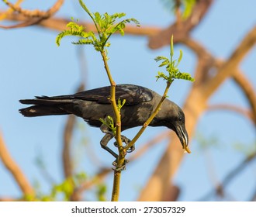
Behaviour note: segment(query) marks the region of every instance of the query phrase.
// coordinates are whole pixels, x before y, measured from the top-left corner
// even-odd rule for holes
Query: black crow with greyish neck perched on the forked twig
[[[113,138],[112,133],[106,126],[102,125],[99,119],[106,119],[108,115],[114,117],[112,106],[109,102],[110,86],[95,88],[88,91],[81,91],[74,95],[60,95],[54,97],[36,96],[34,99],[21,99],[22,104],[33,105],[19,109],[19,112],[26,117],[36,117],[43,115],[69,115],[74,114],[90,126],[100,127],[106,135],[101,140],[101,146],[112,156],[117,157],[107,144]],[[154,108],[161,100],[161,95],[148,88],[133,84],[116,85],[116,99],[126,99],[121,108],[122,131],[135,126],[143,126]],[[161,110],[150,122],[149,126],[167,126],[177,134],[182,143],[183,149],[188,153],[189,137],[185,129],[185,115],[182,108],[167,98],[164,100]],[[122,136],[125,143],[129,143],[125,136]],[[134,150],[134,146],[130,151]]]

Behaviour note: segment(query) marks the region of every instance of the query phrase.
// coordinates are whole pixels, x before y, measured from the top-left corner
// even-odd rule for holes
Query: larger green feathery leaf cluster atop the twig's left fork
[[[117,22],[118,19],[121,19],[126,15],[125,13],[115,13],[113,15],[109,15],[106,12],[101,15],[99,12],[90,12],[82,0],[79,0],[79,3],[94,22],[98,37],[95,36],[95,33],[92,31],[87,32],[84,26],[79,26],[77,22],[72,21],[67,23],[67,29],[58,34],[56,39],[57,46],[60,46],[61,40],[64,38],[64,36],[78,36],[81,39],[73,42],[74,44],[92,44],[95,47],[95,50],[102,52],[105,47],[110,46],[108,41],[109,37],[112,36],[113,33],[119,32],[122,36],[124,35],[123,29],[125,29],[126,23],[133,22],[137,26],[140,26],[137,19],[133,18],[123,19],[122,21]]]

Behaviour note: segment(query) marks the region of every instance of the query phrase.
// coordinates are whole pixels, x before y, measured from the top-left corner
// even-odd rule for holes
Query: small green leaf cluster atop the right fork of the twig
[[[164,80],[172,83],[175,79],[183,79],[187,81],[195,81],[193,77],[189,73],[181,72],[178,69],[178,64],[182,60],[182,50],[180,50],[180,54],[178,57],[178,60],[173,60],[174,56],[174,48],[173,48],[173,36],[171,36],[171,58],[168,59],[168,57],[158,56],[154,60],[161,61],[161,64],[159,67],[165,67],[165,70],[168,72],[168,74],[164,74],[161,71],[158,71],[157,73],[157,80],[159,78],[163,78]]]

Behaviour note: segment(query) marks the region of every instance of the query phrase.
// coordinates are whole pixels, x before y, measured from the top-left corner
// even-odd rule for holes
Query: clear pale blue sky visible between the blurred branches
[[[54,2],[54,1],[50,1]],[[106,4],[106,2],[108,2]],[[34,2],[35,4],[36,2]],[[160,0],[152,1],[86,1],[92,12],[126,12],[127,18],[133,17],[140,21],[141,25],[168,26],[173,17]],[[39,6],[41,5],[42,6]],[[26,1],[24,5],[33,5],[33,1]],[[37,7],[47,9],[50,3],[36,3]],[[255,25],[256,2],[252,1],[216,1],[206,15],[201,25],[192,32],[192,37],[199,40],[210,52],[220,58],[227,58],[234,47],[240,42],[249,29]],[[4,5],[1,3],[0,8]],[[88,16],[79,8],[78,1],[66,1],[57,16],[74,17],[88,20]],[[21,98],[33,98],[34,95],[66,95],[74,93],[81,80],[81,72],[78,61],[78,47],[71,44],[71,38],[62,41],[61,47],[55,44],[57,32],[48,29],[28,27],[26,29],[0,29],[1,47],[1,79],[0,79],[0,128],[4,135],[5,143],[12,157],[22,168],[29,181],[40,181],[42,191],[49,191],[49,184],[42,178],[42,174],[35,164],[36,157],[43,157],[47,171],[60,182],[63,178],[61,167],[61,141],[66,116],[50,116],[34,119],[26,119],[19,114]],[[140,84],[151,88],[158,93],[164,91],[163,81],[155,82],[157,64],[156,56],[168,56],[169,48],[159,50],[147,48],[147,37],[140,36],[113,36],[109,48],[109,67],[116,83]],[[176,46],[175,53],[183,50],[183,59],[180,64],[182,71],[193,73],[195,67],[195,55],[183,46]],[[87,88],[97,88],[109,84],[99,53],[92,47],[86,47],[85,54],[86,74],[82,79]],[[256,85],[255,75],[256,49],[246,57],[240,68]],[[169,92],[172,101],[182,106],[190,88],[189,82],[175,81]],[[210,103],[231,103],[247,106],[247,102],[239,88],[233,81],[225,81],[224,85],[216,91],[210,99]],[[189,122],[189,120],[187,120]],[[86,171],[94,174],[99,165],[110,165],[112,157],[99,146],[102,133],[99,129],[90,128],[79,120],[80,126],[74,136],[74,156],[78,172]],[[137,142],[146,143],[164,128],[148,128],[147,132]],[[127,137],[133,137],[137,129],[125,132]],[[234,150],[234,143],[244,143],[250,146],[255,143],[255,131],[251,124],[243,117],[232,112],[206,113],[199,120],[197,132],[206,138],[217,137],[219,146],[210,149],[216,178],[222,178],[232,168],[244,159],[244,154]],[[86,141],[86,145],[81,144]],[[180,144],[178,144],[180,146]],[[193,201],[201,198],[213,184],[209,181],[206,167],[206,158],[195,140],[191,140],[192,154],[185,157],[182,167],[175,177],[175,183],[182,187],[182,201]],[[137,198],[137,192],[144,186],[147,177],[150,176],[157,164],[166,143],[154,146],[144,157],[127,165],[123,172],[120,200],[133,201]],[[92,152],[93,159],[88,158],[88,152]],[[150,159],[150,160],[149,160]],[[143,169],[142,169],[143,168]],[[141,172],[143,171],[143,172]],[[140,176],[138,176],[140,174]],[[20,191],[13,182],[9,172],[0,163],[0,197],[19,197]],[[254,191],[255,164],[248,167],[227,188],[227,191],[237,200],[247,200],[251,191]],[[106,183],[109,190],[112,186],[112,176]],[[252,190],[253,189],[253,190]],[[111,191],[108,192],[110,197]],[[88,195],[93,199],[92,195]]]

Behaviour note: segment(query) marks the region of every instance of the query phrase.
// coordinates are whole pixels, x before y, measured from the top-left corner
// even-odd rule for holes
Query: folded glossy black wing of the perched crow
[[[71,95],[74,98],[87,101],[95,101],[100,104],[110,104],[110,87],[96,88],[88,91],[82,91]],[[126,99],[125,105],[136,105],[140,102],[148,102],[152,100],[152,92],[144,87],[133,84],[116,85],[116,100]]]

